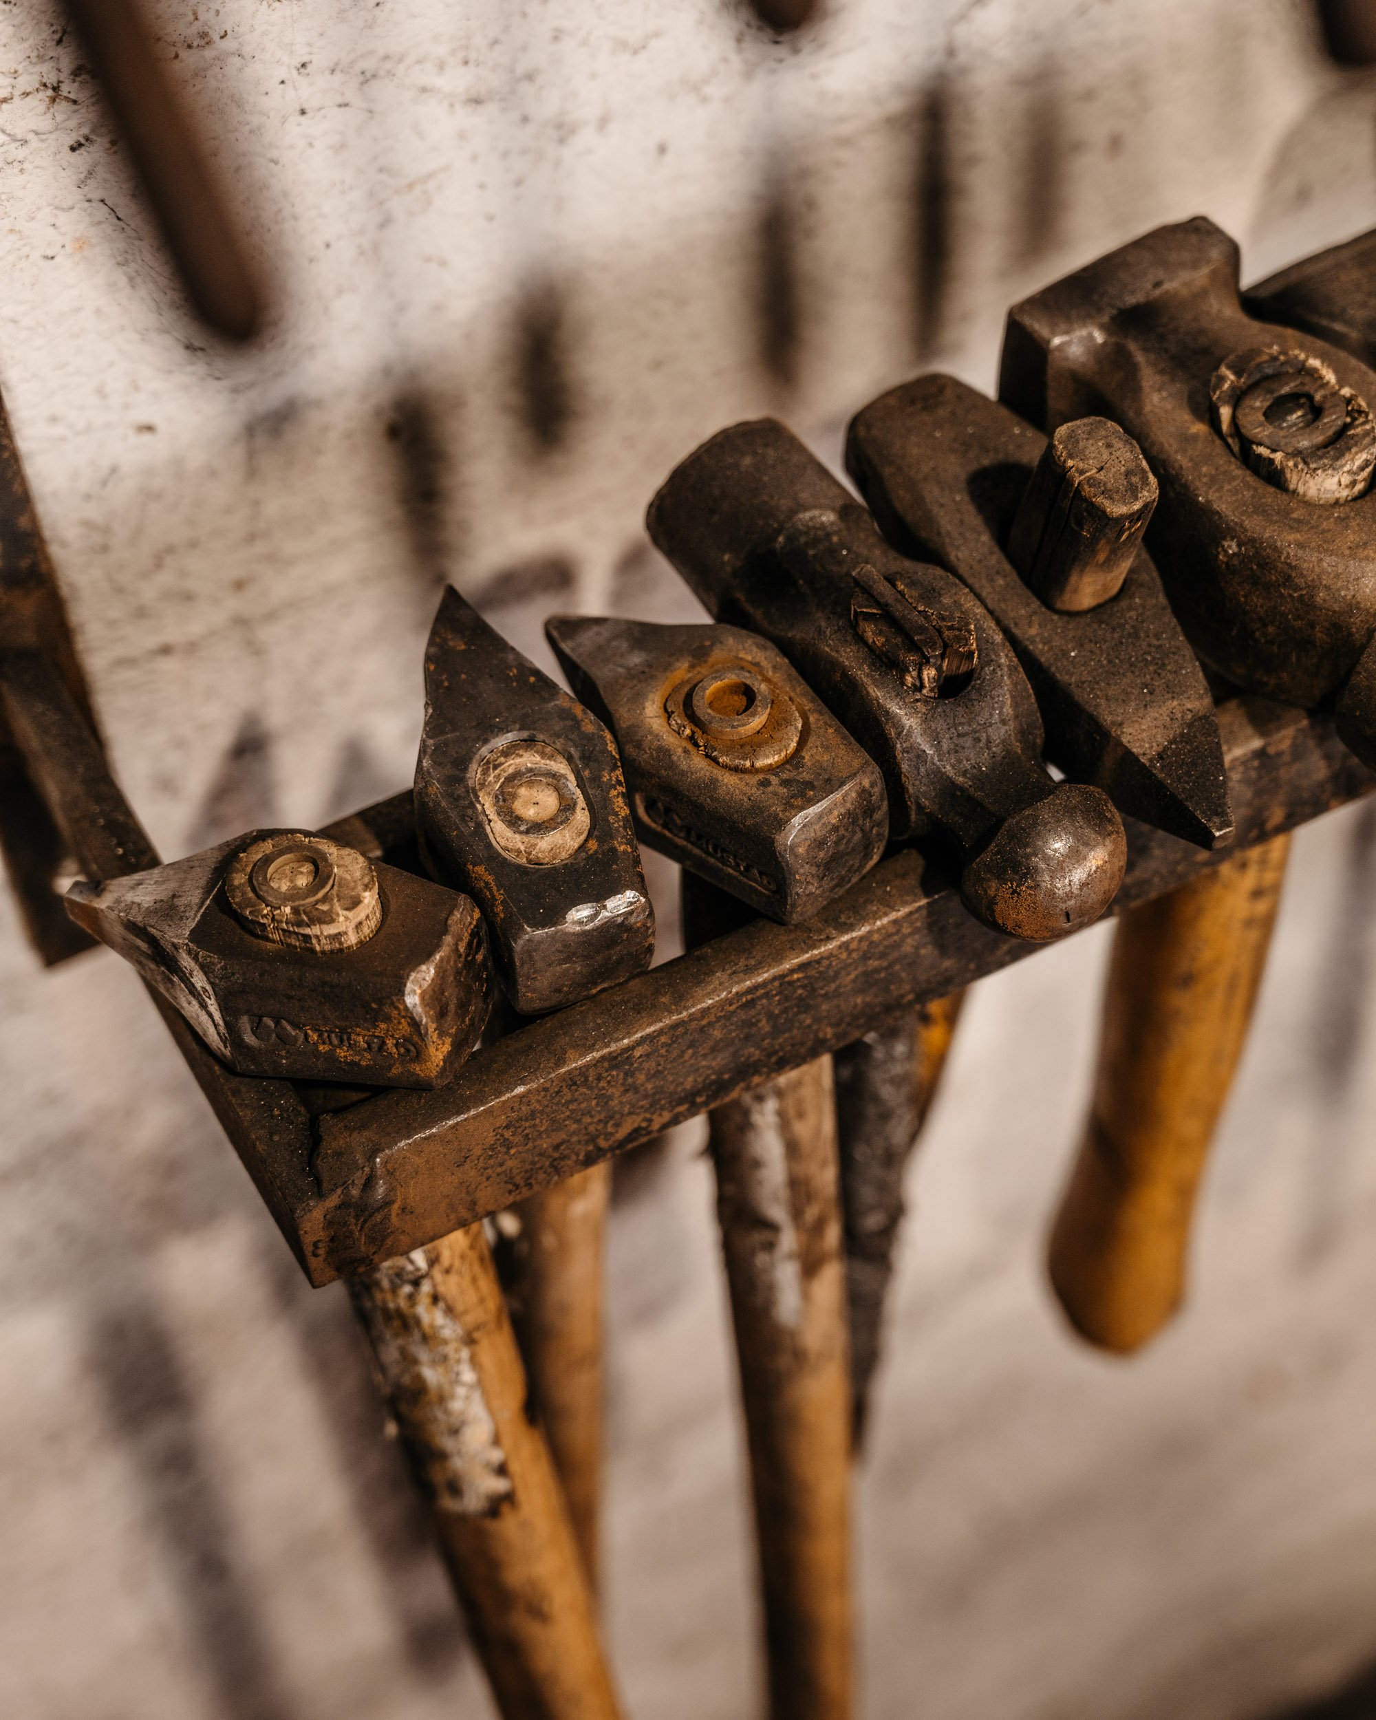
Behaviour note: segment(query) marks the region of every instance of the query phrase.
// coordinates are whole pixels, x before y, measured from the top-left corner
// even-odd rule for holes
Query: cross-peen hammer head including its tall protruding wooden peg
[[[1142,547],[1156,483],[1123,430],[1082,418],[1047,442],[920,377],[857,415],[846,464],[889,542],[949,568],[1003,628],[1066,776],[1201,848],[1230,841],[1213,698]]]

